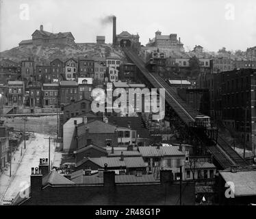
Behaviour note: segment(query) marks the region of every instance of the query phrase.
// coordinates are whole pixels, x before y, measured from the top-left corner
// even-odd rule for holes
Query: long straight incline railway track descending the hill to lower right
[[[177,113],[179,118],[186,124],[190,125],[194,122],[194,118],[196,117],[196,112],[189,107],[179,96],[178,94],[170,88],[168,83],[162,79],[159,75],[149,73],[149,71],[145,68],[144,62],[140,59],[140,57],[131,51],[130,49],[123,48],[125,54],[129,57],[129,59],[136,64],[136,66],[140,69],[144,77],[149,80],[154,88],[164,88],[166,90],[166,102],[168,105],[172,107],[172,109]],[[201,136],[196,135],[201,142]],[[216,145],[207,146],[207,149],[214,155],[214,158],[222,166],[222,168],[229,168],[230,166],[247,166],[247,162],[234,150],[229,146],[229,144],[220,136],[218,136]]]

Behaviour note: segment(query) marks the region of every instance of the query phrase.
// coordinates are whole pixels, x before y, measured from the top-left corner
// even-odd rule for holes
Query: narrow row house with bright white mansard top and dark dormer
[[[93,78],[92,77],[79,77],[77,79],[78,83],[78,99],[91,99],[91,93],[93,88]]]

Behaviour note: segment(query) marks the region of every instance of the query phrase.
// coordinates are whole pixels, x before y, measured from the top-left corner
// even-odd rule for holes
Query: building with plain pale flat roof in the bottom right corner
[[[218,174],[219,205],[250,205],[256,203],[255,168],[231,167]]]

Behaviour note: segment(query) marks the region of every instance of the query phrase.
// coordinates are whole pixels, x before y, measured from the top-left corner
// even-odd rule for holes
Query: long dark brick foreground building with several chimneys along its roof
[[[194,205],[194,183],[172,181],[171,170],[153,175],[115,175],[107,170],[97,175],[80,170],[67,179],[48,165],[31,168],[29,197],[20,192],[12,205]],[[150,188],[150,190],[149,190]]]

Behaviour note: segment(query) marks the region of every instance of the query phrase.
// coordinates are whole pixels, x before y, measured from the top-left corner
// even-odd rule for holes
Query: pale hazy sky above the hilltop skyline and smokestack
[[[103,35],[112,43],[115,15],[117,34],[139,34],[146,44],[159,29],[177,34],[186,51],[200,44],[205,51],[245,51],[256,46],[255,0],[0,0],[0,51],[17,47],[39,29],[71,31],[75,42],[96,42]]]

